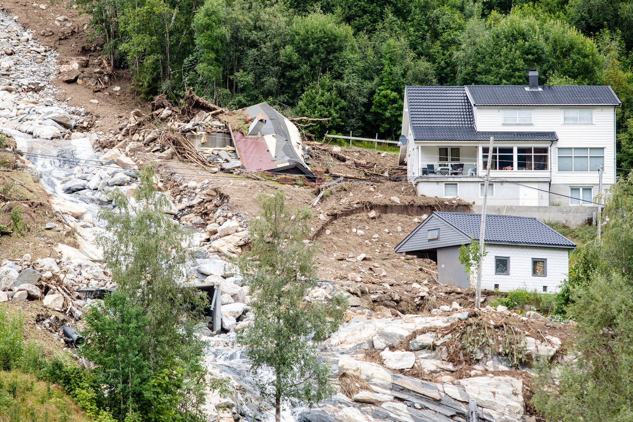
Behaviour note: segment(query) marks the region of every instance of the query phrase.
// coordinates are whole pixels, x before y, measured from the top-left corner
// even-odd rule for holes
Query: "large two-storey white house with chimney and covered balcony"
[[[480,204],[492,150],[489,205],[591,205],[615,182],[609,86],[407,86],[399,160],[418,195]]]

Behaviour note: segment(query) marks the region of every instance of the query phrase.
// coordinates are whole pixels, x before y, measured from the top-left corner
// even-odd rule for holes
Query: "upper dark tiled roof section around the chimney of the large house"
[[[520,85],[469,85],[475,106],[622,105],[610,86],[541,86],[530,91]]]

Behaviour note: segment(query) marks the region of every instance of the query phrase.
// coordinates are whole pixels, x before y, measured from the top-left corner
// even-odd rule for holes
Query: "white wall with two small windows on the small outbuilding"
[[[499,291],[514,289],[542,292],[548,286],[548,293],[558,291],[560,283],[567,278],[569,253],[561,248],[533,246],[486,245],[488,254],[482,264],[482,288]],[[510,257],[510,274],[494,274],[494,257]],[[547,259],[547,276],[532,276],[532,258]]]

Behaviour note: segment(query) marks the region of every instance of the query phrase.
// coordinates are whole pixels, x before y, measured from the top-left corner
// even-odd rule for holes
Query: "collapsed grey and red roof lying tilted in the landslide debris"
[[[235,148],[244,168],[251,172],[302,174],[316,179],[304,160],[299,129],[268,103],[246,108],[253,122],[245,136],[233,130]]]

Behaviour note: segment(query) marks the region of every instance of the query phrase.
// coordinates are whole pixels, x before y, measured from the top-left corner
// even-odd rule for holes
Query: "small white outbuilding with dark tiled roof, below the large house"
[[[395,248],[437,262],[438,279],[468,288],[459,260],[461,245],[479,241],[480,214],[433,212]],[[569,253],[576,245],[534,217],[486,215],[487,255],[482,260],[482,288],[518,288],[554,293],[567,277]]]

